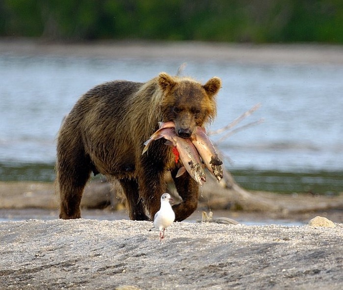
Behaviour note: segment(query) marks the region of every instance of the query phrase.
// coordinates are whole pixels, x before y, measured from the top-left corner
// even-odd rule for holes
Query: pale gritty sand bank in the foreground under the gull
[[[342,224],[151,225],[0,222],[1,289],[342,289]]]

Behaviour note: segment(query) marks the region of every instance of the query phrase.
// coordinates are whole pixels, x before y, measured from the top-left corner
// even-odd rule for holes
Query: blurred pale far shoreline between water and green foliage
[[[0,38],[0,53],[81,57],[213,60],[239,63],[343,65],[343,46],[321,44],[233,44],[212,42],[101,41],[46,42],[37,38]]]

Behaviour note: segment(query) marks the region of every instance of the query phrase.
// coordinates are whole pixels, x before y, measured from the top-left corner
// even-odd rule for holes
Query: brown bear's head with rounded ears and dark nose
[[[214,119],[215,95],[221,87],[219,78],[213,77],[202,85],[194,79],[160,73],[158,85],[163,92],[162,121],[174,121],[175,132],[180,137],[190,137],[197,126],[202,127]]]

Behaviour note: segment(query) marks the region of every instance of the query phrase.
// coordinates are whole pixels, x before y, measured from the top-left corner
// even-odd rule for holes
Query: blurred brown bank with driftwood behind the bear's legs
[[[208,174],[207,176],[210,177]],[[91,182],[85,189],[82,208],[122,209],[122,195],[108,182]],[[168,191],[181,201],[173,183]],[[119,193],[119,194],[118,194]],[[0,182],[0,209],[53,209],[58,208],[58,198],[51,183]],[[269,212],[277,217],[310,211],[343,210],[343,195],[313,196],[311,194],[275,194],[271,192],[248,192],[236,183],[227,188],[214,178],[208,178],[200,188],[198,210],[200,211],[245,211]]]

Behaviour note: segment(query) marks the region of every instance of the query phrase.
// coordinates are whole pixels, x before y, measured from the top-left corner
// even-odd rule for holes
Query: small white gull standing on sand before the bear
[[[160,241],[164,238],[164,230],[175,220],[175,213],[169,203],[170,200],[173,200],[170,194],[163,193],[161,196],[161,207],[154,216],[154,228],[159,230]]]

